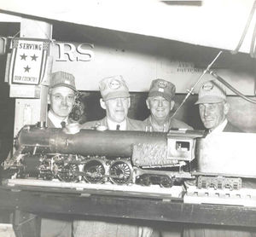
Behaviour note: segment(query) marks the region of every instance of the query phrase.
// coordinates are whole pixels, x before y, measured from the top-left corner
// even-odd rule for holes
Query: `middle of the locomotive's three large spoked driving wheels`
[[[102,160],[90,159],[84,164],[84,173],[84,179],[87,182],[102,183],[106,173],[105,165]]]

